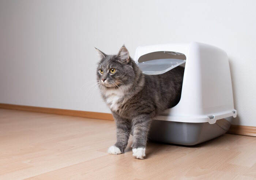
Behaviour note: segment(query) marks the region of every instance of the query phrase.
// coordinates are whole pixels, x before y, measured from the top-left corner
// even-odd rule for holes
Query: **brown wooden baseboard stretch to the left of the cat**
[[[65,116],[86,117],[86,118],[93,118],[93,119],[114,120],[112,114],[109,114],[109,113],[56,109],[56,108],[49,108],[49,107],[12,105],[12,104],[4,104],[4,103],[0,103],[0,108],[21,110],[21,111],[32,111],[37,113],[58,114],[58,115],[65,115]]]

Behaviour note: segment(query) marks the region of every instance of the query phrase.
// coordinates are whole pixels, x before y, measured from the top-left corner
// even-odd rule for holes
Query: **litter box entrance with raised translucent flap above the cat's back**
[[[144,74],[163,74],[177,66],[184,66],[186,56],[179,52],[157,51],[140,56],[138,66]]]

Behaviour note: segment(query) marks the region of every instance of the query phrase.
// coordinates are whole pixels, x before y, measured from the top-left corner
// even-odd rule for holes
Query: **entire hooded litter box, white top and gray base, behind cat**
[[[135,61],[145,74],[185,67],[180,102],[154,118],[149,137],[195,145],[227,132],[237,116],[225,51],[203,43],[138,47]]]

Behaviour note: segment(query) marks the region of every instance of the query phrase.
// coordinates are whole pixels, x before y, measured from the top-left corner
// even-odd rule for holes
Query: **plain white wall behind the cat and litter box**
[[[230,58],[234,124],[256,126],[256,1],[0,1],[0,103],[110,111],[94,87],[98,56],[198,41]],[[86,82],[89,82],[85,84]],[[94,81],[96,82],[96,81]]]

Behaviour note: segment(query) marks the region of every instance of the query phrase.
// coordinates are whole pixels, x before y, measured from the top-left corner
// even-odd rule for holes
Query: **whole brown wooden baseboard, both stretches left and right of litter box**
[[[48,107],[12,105],[12,104],[4,104],[4,103],[0,103],[0,108],[32,111],[32,112],[38,112],[38,113],[58,114],[58,115],[65,115],[65,116],[85,117],[85,118],[102,119],[102,120],[114,120],[112,114],[109,114],[109,113],[56,109],[56,108],[48,108]],[[227,133],[239,134],[239,135],[245,135],[245,136],[256,136],[256,127],[231,125]]]

